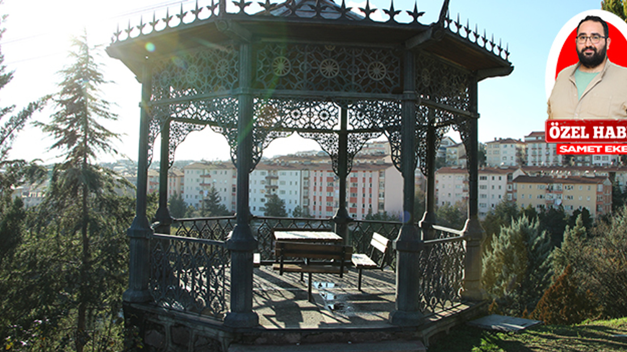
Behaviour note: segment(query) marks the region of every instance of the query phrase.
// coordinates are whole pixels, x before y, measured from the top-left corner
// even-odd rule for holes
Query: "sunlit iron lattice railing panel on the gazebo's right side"
[[[451,235],[452,236],[452,235]],[[449,237],[443,234],[441,237]],[[420,310],[435,312],[461,301],[464,257],[463,240],[425,243],[420,252]]]

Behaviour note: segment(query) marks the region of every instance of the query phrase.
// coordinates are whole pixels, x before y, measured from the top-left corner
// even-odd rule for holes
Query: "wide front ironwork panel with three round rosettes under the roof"
[[[266,43],[257,49],[255,88],[393,93],[401,60],[389,48]]]

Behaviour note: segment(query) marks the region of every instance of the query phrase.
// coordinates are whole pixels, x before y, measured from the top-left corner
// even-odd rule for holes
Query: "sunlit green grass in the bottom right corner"
[[[627,351],[627,318],[573,326],[539,325],[519,333],[458,326],[432,339],[429,352],[617,352]]]

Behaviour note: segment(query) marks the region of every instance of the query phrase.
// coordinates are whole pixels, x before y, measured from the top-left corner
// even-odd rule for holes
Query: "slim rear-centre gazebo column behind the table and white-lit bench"
[[[346,206],[346,178],[348,177],[348,114],[346,108],[340,108],[340,134],[338,141],[338,154],[337,154],[337,177],[340,179],[340,200],[337,207],[337,212],[333,217],[335,222],[335,233],[342,236],[344,244],[350,244],[349,242],[349,212]]]

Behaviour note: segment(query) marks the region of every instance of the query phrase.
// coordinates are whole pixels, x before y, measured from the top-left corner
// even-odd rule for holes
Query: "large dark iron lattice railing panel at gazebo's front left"
[[[150,292],[164,308],[222,319],[228,310],[224,242],[152,239]]]

